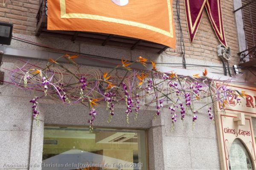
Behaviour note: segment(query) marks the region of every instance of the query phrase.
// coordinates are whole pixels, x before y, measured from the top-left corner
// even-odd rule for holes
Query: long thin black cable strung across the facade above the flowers
[[[16,39],[16,38],[18,38],[18,37],[15,37],[15,38],[12,37],[12,39],[16,40],[16,41],[28,43],[28,44],[35,45],[35,46],[42,47],[42,48],[48,48],[48,49],[52,49],[52,50],[56,50],[56,51],[62,51],[62,53],[68,52],[68,53],[71,53],[71,54],[81,54],[81,55],[88,55],[88,56],[92,56],[92,57],[96,57],[96,58],[101,58],[101,59],[121,61],[121,59],[116,59],[116,58],[102,57],[102,56],[98,56],[98,55],[79,53],[79,52],[76,52],[76,51],[68,51],[68,50],[62,50],[62,49],[57,49],[57,48],[51,48],[51,47],[47,47],[47,46],[42,45],[42,44],[38,44],[38,43],[31,42],[31,41],[24,40],[24,39],[23,40],[18,40],[18,39],[21,39],[21,38],[18,38],[18,39]],[[84,56],[84,57],[86,57],[86,56]],[[128,60],[128,62],[133,62],[133,61]],[[146,62],[146,63],[147,64],[151,64],[151,62]],[[166,63],[166,62],[156,62],[156,64],[183,65],[183,63]],[[186,65],[199,66],[199,67],[227,68],[227,67],[221,67],[221,66],[215,66],[215,65],[198,65],[198,64],[186,64]]]

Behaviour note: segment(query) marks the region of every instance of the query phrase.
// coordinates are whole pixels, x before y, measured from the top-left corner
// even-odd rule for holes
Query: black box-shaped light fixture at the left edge
[[[10,45],[12,41],[13,24],[0,22],[0,44]]]

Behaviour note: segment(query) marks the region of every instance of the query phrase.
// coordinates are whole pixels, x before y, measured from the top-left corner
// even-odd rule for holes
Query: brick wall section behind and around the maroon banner
[[[237,64],[239,62],[239,52],[238,46],[238,36],[236,31],[235,15],[233,14],[233,0],[222,0],[222,14],[223,14],[223,23],[224,31],[227,40],[227,45],[231,47],[232,50],[232,61],[231,63]],[[177,52],[180,52],[179,46],[179,27],[177,20],[177,10],[176,10],[176,0],[173,2],[174,7],[174,17],[175,17],[175,26],[176,26],[176,36],[177,36],[177,45],[176,50],[168,49],[170,55],[175,55]],[[186,16],[184,1],[180,0],[180,19],[181,26],[183,30],[183,37],[186,48],[186,58],[193,59],[202,59],[205,61],[212,61],[220,63],[220,59],[217,55],[217,45],[220,44],[217,36],[211,26],[209,21],[207,11],[204,9],[204,14],[198,28],[193,44],[189,40],[188,29],[186,25]],[[207,62],[206,62],[207,64]]]

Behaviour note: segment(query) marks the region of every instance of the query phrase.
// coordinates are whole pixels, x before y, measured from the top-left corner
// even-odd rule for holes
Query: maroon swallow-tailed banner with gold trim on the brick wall
[[[203,15],[203,10],[205,7],[207,9],[207,13],[211,21],[212,28],[215,31],[215,34],[217,35],[221,44],[227,47],[222,21],[221,0],[184,1],[190,41],[193,42],[195,38],[195,34],[198,30],[198,26],[200,24]]]

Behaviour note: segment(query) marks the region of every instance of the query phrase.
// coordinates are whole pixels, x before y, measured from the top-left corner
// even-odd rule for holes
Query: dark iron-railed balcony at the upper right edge
[[[240,62],[243,66],[256,65],[256,0],[242,0],[242,6],[233,12],[238,11],[241,11],[246,43],[245,50],[238,53]]]

